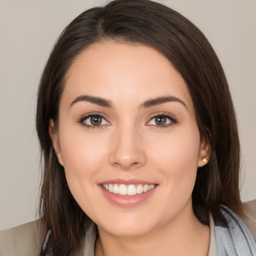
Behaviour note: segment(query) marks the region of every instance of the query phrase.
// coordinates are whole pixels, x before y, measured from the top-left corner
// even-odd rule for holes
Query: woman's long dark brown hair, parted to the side
[[[49,136],[49,120],[53,119],[57,129],[59,100],[76,56],[89,45],[107,40],[153,47],[185,80],[200,136],[210,147],[210,158],[198,168],[192,192],[196,217],[207,223],[209,210],[221,215],[220,204],[242,214],[236,117],[214,50],[195,25],[164,5],[149,0],[114,0],[104,7],[85,10],[67,25],[40,79],[36,109],[43,165],[39,214],[44,229],[51,229],[47,251],[53,255],[79,251],[89,218],[68,189]]]

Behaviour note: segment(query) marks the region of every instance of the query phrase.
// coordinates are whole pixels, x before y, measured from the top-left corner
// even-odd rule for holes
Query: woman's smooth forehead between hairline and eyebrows
[[[117,42],[94,43],[76,57],[63,97],[71,102],[82,94],[123,102],[172,95],[191,105],[183,78],[161,53],[149,46]]]

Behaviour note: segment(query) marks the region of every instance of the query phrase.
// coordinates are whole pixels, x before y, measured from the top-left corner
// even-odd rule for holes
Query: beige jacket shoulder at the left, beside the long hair
[[[40,254],[39,220],[0,231],[1,256]]]

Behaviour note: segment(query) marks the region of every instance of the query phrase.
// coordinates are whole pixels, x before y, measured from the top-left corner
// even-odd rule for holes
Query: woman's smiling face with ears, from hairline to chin
[[[69,189],[98,228],[141,235],[193,214],[207,144],[184,80],[156,50],[85,49],[68,72],[56,133],[53,126]]]

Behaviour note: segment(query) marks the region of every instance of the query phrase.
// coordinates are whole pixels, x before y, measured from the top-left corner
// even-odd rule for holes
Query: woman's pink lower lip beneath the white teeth
[[[109,192],[105,190],[101,185],[99,185],[99,188],[101,189],[103,195],[106,197],[106,199],[118,206],[121,207],[134,207],[139,205],[140,203],[144,202],[147,200],[155,191],[156,185],[154,188],[143,192],[141,194],[135,194],[135,195],[120,195],[120,194],[115,194],[112,192]]]

